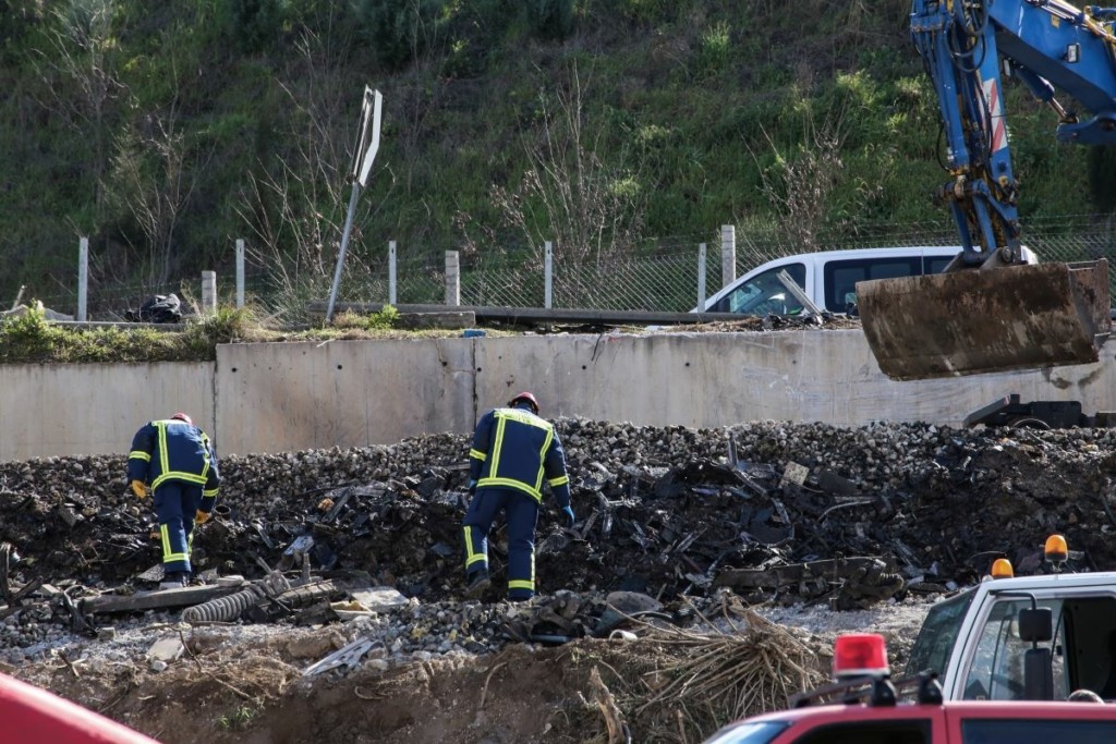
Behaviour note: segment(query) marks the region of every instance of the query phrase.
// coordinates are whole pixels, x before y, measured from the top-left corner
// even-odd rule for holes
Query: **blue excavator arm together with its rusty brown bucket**
[[[962,250],[942,274],[857,284],[889,377],[1097,361],[1110,330],[1107,262],[1026,262],[1001,70],[1057,112],[1059,139],[1116,144],[1114,25],[1116,9],[1061,0],[913,0],[912,39],[937,93],[951,176],[936,196]]]

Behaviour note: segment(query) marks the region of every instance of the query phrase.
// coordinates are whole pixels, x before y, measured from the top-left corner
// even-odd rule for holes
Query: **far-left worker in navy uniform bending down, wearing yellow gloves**
[[[136,497],[145,499],[148,485],[154,495],[163,547],[160,588],[186,586],[194,525],[209,520],[221,485],[209,436],[182,413],[147,422],[132,439],[128,482]]]

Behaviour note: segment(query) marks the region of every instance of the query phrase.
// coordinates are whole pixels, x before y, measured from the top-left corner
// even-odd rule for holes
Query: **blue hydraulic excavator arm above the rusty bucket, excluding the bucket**
[[[963,252],[951,269],[1022,262],[1001,62],[1059,117],[1057,136],[1116,144],[1116,9],[1061,0],[913,0],[911,33],[937,91],[953,181],[939,196]],[[1080,115],[1062,107],[1056,89]]]

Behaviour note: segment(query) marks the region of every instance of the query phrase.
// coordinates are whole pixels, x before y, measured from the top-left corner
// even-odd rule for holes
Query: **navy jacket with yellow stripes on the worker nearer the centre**
[[[526,408],[496,408],[484,414],[469,451],[477,487],[516,489],[542,501],[546,482],[560,506],[569,505],[566,454],[554,425]]]

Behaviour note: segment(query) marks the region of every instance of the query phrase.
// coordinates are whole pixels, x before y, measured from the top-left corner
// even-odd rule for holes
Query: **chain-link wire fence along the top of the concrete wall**
[[[704,276],[701,276],[699,245],[705,243]],[[735,228],[735,276],[783,255],[815,250],[853,248],[886,248],[910,245],[956,244],[956,229],[952,222],[929,224],[879,224],[856,230],[834,230],[804,242],[770,228]],[[1043,262],[1091,261],[1106,258],[1114,264],[1109,281],[1116,297],[1116,225],[1106,216],[1083,215],[1057,219],[1038,219],[1028,222],[1024,243]],[[386,245],[386,243],[385,243]],[[396,305],[444,305],[445,251],[424,251],[407,254],[401,247],[396,261]],[[375,251],[373,251],[374,253]],[[720,233],[705,238],[673,238],[648,241],[622,257],[606,257],[593,261],[564,261],[560,250],[555,251],[551,264],[551,302],[561,309],[648,310],[684,312],[699,305],[700,287],[705,297],[714,294],[722,281],[722,243]],[[537,250],[509,250],[502,252],[460,254],[460,302],[484,307],[546,307],[545,254]],[[297,319],[299,308],[307,301],[326,299],[328,277],[292,289],[289,277],[279,281],[270,267],[246,267],[246,297],[249,302],[264,308],[269,313],[285,319]],[[389,265],[387,252],[383,255],[362,257],[359,270],[346,267],[338,300],[347,302],[391,301]],[[702,284],[702,278],[704,284]],[[47,296],[28,296],[60,312],[74,312],[77,306],[77,282],[74,287],[59,287]],[[153,294],[176,292],[184,300],[196,300],[200,290],[198,277],[175,283],[154,284],[96,284],[88,298],[88,316],[96,320],[123,320],[129,309],[138,309]],[[232,273],[218,278],[221,302],[231,305],[235,283]],[[185,297],[183,297],[185,294]]]

